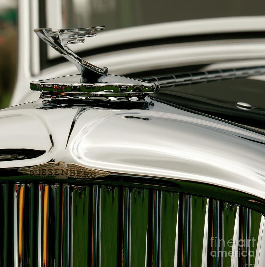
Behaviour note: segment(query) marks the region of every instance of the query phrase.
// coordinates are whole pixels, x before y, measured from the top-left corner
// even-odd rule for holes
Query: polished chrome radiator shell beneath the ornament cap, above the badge
[[[0,123],[1,149],[10,150],[0,161],[2,169],[64,161],[110,173],[205,182],[265,198],[263,135],[149,96],[97,101],[42,95],[1,110]],[[22,148],[44,152],[12,160]]]

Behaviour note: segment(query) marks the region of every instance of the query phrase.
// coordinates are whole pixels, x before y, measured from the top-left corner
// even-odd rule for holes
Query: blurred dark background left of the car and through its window
[[[51,0],[40,0],[39,6],[44,6],[47,10],[52,8],[53,3]],[[258,0],[62,0],[60,4],[63,28],[106,25],[106,30],[179,20],[265,13],[265,4]],[[17,8],[16,0],[0,0],[0,108],[8,107],[15,86],[18,54]],[[45,27],[41,25],[41,21],[40,27]]]

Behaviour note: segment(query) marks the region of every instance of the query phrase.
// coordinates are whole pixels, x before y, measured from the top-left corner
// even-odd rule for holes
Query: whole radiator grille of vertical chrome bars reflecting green
[[[260,254],[264,216],[213,198],[91,183],[0,191],[0,266],[247,266]],[[211,257],[220,250],[254,257]]]

